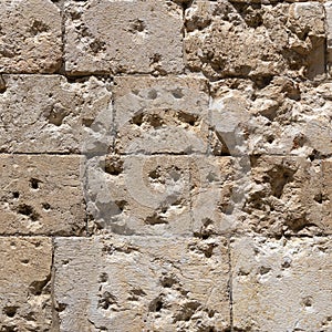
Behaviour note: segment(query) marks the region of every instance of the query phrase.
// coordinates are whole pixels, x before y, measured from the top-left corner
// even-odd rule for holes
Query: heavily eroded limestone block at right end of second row
[[[252,82],[230,79],[211,84],[215,154],[232,156],[332,154],[331,83],[318,86],[276,76]]]

